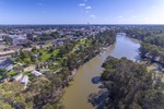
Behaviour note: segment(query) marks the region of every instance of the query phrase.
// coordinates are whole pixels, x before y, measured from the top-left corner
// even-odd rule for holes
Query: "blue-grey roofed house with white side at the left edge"
[[[11,71],[13,70],[13,62],[7,59],[0,63],[0,69],[5,69],[7,71]]]

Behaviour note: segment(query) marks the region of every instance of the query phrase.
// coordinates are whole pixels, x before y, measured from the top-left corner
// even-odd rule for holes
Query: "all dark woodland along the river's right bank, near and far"
[[[164,65],[164,32],[162,26],[138,26],[119,28],[129,37],[142,41],[142,58]],[[98,94],[91,94],[89,101],[98,109],[163,109],[164,83],[156,80],[147,65],[126,58],[108,57],[102,65],[102,87]]]

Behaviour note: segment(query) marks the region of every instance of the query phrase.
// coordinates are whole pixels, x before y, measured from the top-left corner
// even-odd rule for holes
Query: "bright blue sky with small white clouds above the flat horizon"
[[[0,0],[2,24],[164,24],[164,0]]]

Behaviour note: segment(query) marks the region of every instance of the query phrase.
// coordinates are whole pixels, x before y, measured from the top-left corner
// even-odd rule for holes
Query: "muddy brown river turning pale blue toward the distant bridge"
[[[92,78],[99,76],[103,72],[102,63],[108,56],[116,58],[127,57],[130,60],[140,60],[140,43],[136,39],[117,35],[116,43],[108,47],[102,55],[96,56],[91,61],[82,65],[74,76],[70,86],[66,88],[61,102],[66,109],[94,109],[87,102],[87,97],[92,93],[97,93],[99,84],[93,84]]]

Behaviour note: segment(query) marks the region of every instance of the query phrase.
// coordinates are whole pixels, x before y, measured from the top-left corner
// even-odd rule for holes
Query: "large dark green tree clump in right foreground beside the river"
[[[163,109],[164,84],[153,80],[147,66],[126,58],[108,57],[102,65],[104,89],[89,98],[103,109]],[[101,98],[101,101],[97,99]]]

